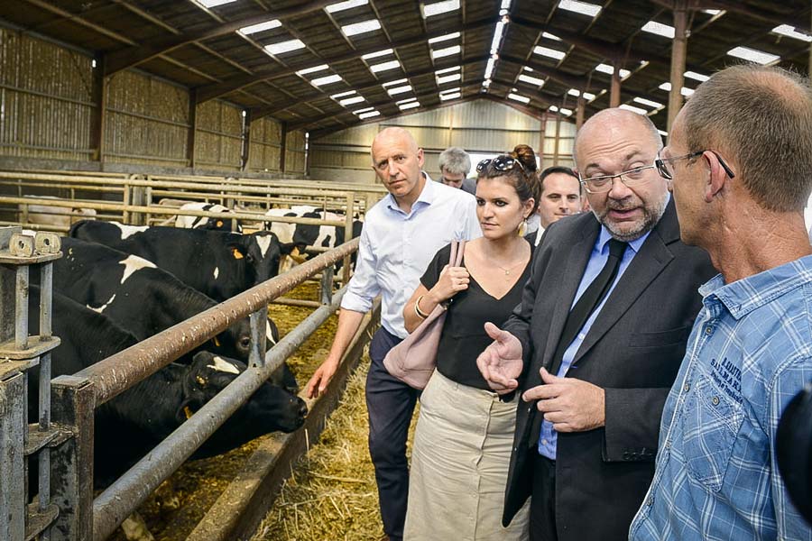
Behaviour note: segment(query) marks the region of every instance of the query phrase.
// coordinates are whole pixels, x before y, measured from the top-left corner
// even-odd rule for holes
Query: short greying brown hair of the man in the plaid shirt
[[[683,110],[688,151],[719,151],[762,208],[798,212],[812,189],[812,87],[775,67],[733,66],[697,87]]]

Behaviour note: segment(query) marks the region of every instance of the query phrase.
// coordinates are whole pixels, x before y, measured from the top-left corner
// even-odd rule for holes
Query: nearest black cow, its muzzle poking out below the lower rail
[[[32,313],[40,302],[32,286]],[[61,344],[52,353],[52,377],[73,374],[136,344],[137,339],[104,314],[53,294],[53,335]],[[38,334],[39,318],[31,317]],[[172,363],[96,409],[95,476],[106,486],[169,436],[193,412],[246,370],[245,364],[201,352],[189,365]],[[38,384],[29,378],[29,418],[36,419]],[[225,453],[256,436],[281,430],[292,432],[304,422],[307,406],[287,390],[263,383],[194,456]]]

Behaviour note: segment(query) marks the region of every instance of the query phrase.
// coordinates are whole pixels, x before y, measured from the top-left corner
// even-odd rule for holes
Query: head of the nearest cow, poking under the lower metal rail
[[[196,354],[184,381],[183,401],[177,414],[179,421],[202,408],[245,370],[245,363],[235,359],[209,352]],[[226,453],[276,430],[293,432],[304,423],[307,411],[304,400],[265,382],[198,449],[195,458]]]

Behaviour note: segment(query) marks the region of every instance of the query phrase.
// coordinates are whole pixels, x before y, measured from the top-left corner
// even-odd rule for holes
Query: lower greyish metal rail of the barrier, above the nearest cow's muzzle
[[[346,289],[337,292],[333,303],[316,309],[299,326],[285,335],[268,353],[263,366],[243,372],[226,389],[200,408],[185,423],[152,449],[128,472],[102,492],[93,502],[93,538],[103,541],[172,472],[214,434],[254,391],[281,366],[309,336],[336,313]],[[122,495],[126,494],[126,498]]]

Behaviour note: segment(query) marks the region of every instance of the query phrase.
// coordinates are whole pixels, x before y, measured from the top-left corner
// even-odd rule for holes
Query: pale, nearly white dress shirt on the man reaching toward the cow
[[[440,248],[452,240],[482,236],[476,199],[426,178],[420,197],[405,213],[392,194],[383,197],[364,216],[355,274],[341,307],[366,312],[379,294],[381,324],[392,335],[405,338],[403,307],[420,285],[420,277]]]

